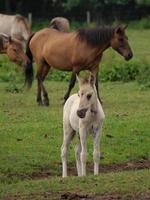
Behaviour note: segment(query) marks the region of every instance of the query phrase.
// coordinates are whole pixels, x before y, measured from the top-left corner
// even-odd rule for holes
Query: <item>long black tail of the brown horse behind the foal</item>
[[[32,35],[30,35],[28,41],[27,41],[27,45],[26,45],[26,55],[29,58],[29,62],[25,65],[24,67],[24,72],[25,72],[25,85],[28,85],[28,88],[30,88],[32,86],[32,82],[33,82],[33,56],[29,47],[29,43],[30,40],[32,39],[32,37],[34,36],[35,33],[33,33]]]

